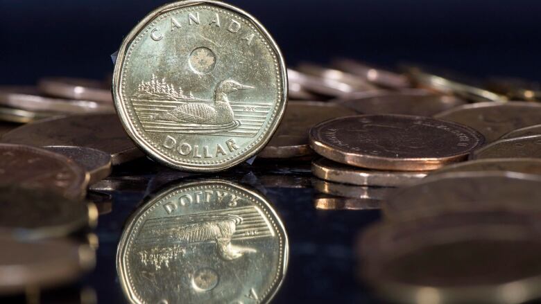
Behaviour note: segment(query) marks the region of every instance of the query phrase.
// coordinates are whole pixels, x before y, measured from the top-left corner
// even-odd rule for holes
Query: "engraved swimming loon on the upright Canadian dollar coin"
[[[186,103],[157,116],[158,119],[177,123],[198,123],[205,125],[224,125],[232,123],[233,109],[229,105],[227,94],[238,90],[252,89],[248,85],[234,80],[223,80],[214,90],[214,105],[204,103]]]

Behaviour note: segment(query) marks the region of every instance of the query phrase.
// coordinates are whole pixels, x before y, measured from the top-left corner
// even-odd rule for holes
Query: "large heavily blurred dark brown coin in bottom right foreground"
[[[442,215],[363,233],[359,272],[393,303],[524,303],[541,296],[541,231],[510,213]]]

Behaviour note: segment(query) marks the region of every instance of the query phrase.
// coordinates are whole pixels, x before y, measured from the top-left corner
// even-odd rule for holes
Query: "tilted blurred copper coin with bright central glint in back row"
[[[336,69],[358,75],[362,79],[379,87],[387,87],[390,89],[411,87],[411,83],[405,75],[385,71],[383,69],[375,69],[374,67],[368,66],[357,60],[346,58],[336,59],[332,61],[332,66],[336,67]]]

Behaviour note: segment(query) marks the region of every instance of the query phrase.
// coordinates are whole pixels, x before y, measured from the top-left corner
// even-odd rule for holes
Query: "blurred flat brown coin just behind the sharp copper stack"
[[[436,95],[423,89],[377,90],[353,93],[334,100],[359,114],[404,114],[432,116],[466,102],[454,96]]]

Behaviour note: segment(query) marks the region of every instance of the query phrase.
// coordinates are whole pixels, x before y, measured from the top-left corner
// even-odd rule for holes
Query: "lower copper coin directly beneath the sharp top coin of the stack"
[[[446,167],[444,167],[446,168]],[[312,173],[320,179],[360,186],[400,187],[413,184],[427,172],[361,169],[320,158],[312,161]]]

